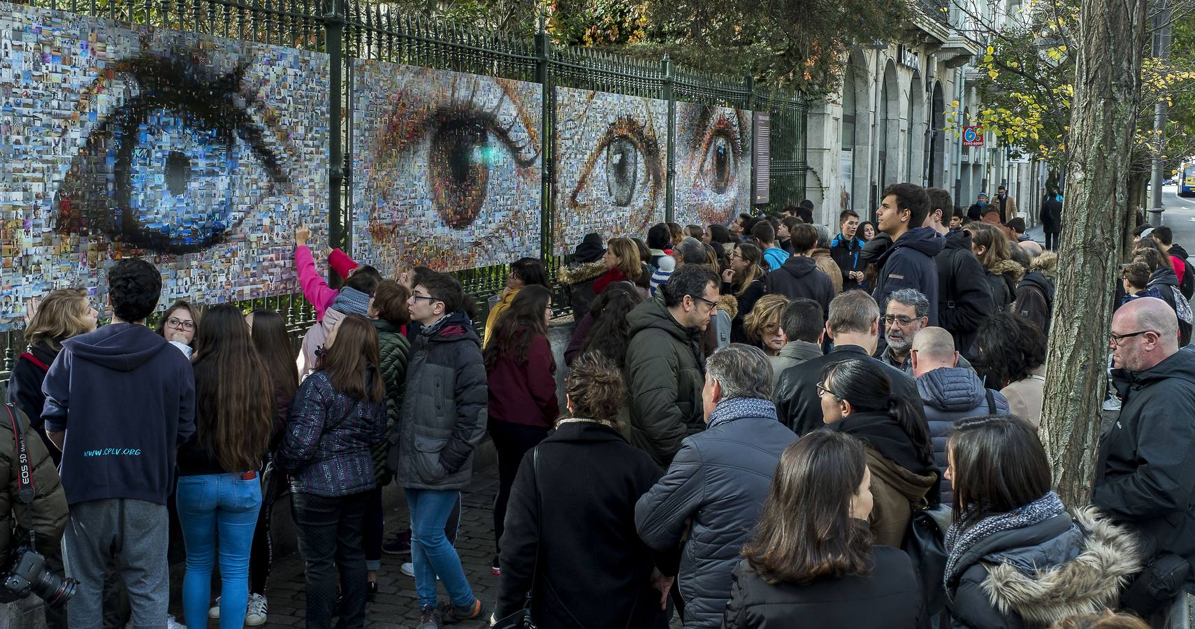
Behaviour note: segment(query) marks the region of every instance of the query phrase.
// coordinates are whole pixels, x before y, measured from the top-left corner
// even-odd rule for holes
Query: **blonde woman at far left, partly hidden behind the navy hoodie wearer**
[[[17,358],[8,377],[8,403],[16,405],[29,417],[30,425],[37,428],[42,441],[50,451],[54,465],[62,462],[62,451],[45,436],[45,425],[42,423],[42,407],[45,396],[42,395],[42,380],[54,359],[62,350],[62,341],[96,330],[99,313],[87,301],[87,292],[82,288],[60,288],[45,295],[33,310],[25,325],[25,342],[29,350]]]

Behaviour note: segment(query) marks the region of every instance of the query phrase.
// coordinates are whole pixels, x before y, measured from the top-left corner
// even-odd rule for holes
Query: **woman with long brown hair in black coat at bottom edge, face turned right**
[[[815,430],[789,446],[722,627],[926,627],[908,555],[871,545],[870,483],[863,442],[846,433]]]

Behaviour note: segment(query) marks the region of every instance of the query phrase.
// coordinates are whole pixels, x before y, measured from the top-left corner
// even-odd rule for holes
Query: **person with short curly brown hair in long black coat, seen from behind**
[[[571,417],[523,457],[510,490],[494,616],[515,613],[531,592],[540,629],[667,628],[673,580],[656,566],[675,574],[679,556],[655,555],[635,531],[635,502],[660,469],[618,432],[621,373],[587,353],[566,391]]]

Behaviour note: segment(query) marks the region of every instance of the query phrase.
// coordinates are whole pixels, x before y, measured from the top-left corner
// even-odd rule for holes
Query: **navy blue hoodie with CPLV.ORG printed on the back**
[[[145,325],[114,323],[62,342],[42,383],[47,432],[66,430],[67,503],[166,503],[174,448],[195,433],[195,374]]]

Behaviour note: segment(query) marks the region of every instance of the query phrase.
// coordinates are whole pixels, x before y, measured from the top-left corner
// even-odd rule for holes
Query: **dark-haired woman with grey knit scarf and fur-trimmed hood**
[[[1029,422],[967,417],[946,442],[946,460],[955,521],[944,584],[955,627],[1049,627],[1117,605],[1140,569],[1136,537],[1095,508],[1067,513]]]

